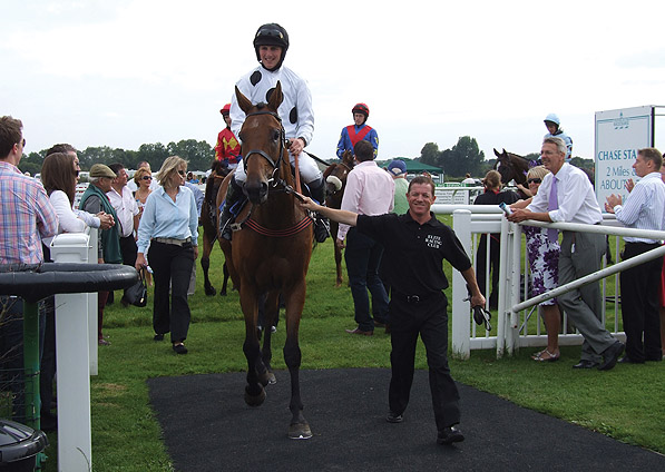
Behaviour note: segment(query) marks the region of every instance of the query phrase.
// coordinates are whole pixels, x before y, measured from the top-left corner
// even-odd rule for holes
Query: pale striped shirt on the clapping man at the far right
[[[651,173],[635,184],[624,205],[614,207],[616,219],[627,228],[665,230],[665,184],[661,173]],[[626,243],[659,243],[642,237],[624,237]]]

